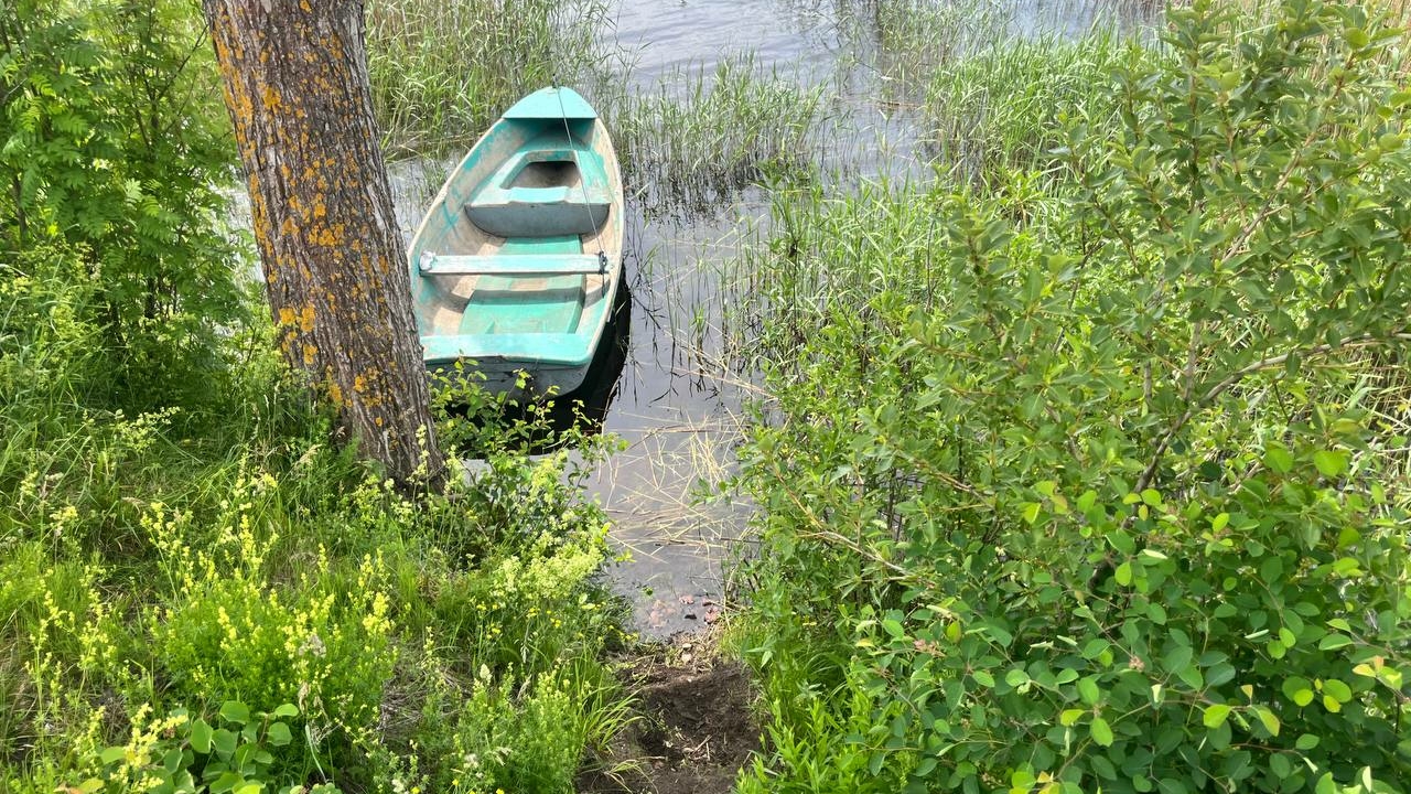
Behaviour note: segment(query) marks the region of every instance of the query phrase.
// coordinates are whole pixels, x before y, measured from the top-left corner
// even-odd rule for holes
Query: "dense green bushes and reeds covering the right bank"
[[[742,790],[1405,790],[1404,40],[1245,21],[1170,11],[1054,194],[786,226]]]

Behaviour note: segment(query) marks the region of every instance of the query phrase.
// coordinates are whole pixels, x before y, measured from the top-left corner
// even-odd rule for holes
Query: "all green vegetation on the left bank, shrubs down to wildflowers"
[[[0,3],[0,790],[387,791],[521,737],[498,778],[567,790],[625,702],[602,513],[523,422],[415,500],[337,442],[237,288],[214,85],[195,3]]]

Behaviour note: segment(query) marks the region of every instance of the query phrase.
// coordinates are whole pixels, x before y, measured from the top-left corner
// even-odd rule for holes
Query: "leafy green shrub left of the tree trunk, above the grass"
[[[192,373],[223,366],[219,329],[244,314],[209,49],[183,0],[0,8],[0,261],[83,251],[82,319],[102,329],[104,386],[130,410],[205,383]]]

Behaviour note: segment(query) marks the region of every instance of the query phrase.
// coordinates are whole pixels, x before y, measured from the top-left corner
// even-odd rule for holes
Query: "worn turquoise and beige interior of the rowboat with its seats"
[[[605,316],[610,257],[621,251],[618,178],[595,117],[507,117],[491,129],[442,188],[411,251],[428,360],[474,357],[487,335],[543,335],[549,345]]]

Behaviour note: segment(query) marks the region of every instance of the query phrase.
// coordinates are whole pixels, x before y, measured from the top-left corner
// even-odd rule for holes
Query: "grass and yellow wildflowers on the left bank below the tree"
[[[0,281],[3,787],[124,790],[106,747],[155,770],[154,725],[238,701],[298,708],[271,787],[571,791],[628,716],[601,663],[622,639],[593,582],[605,520],[567,452],[505,441],[409,500],[339,448],[262,326],[231,329],[199,389],[124,413],[79,261]]]

